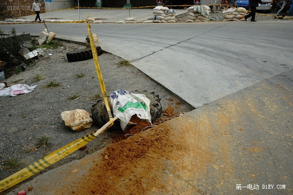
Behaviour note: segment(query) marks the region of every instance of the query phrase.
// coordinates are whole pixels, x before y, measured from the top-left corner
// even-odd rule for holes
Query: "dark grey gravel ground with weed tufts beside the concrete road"
[[[102,96],[93,59],[73,63],[67,61],[67,52],[84,48],[84,45],[66,42],[63,42],[63,45],[57,49],[44,50],[44,57],[21,74],[14,75],[6,81],[10,86],[27,84],[37,87],[27,94],[0,97],[0,180],[98,129],[92,126],[86,130],[73,131],[64,125],[60,117],[63,111],[73,109],[84,109],[90,113],[91,106],[97,101],[94,96]],[[119,65],[122,60],[124,59],[110,53],[99,56],[108,94],[117,89],[153,91],[160,95],[163,110],[175,103],[175,111],[178,114],[193,109],[134,66]],[[79,78],[77,75],[82,73],[85,76]],[[41,81],[34,80],[37,74],[43,77]],[[62,86],[45,87],[51,81],[61,83]],[[79,97],[70,99],[74,95]],[[113,133],[115,130],[106,130],[89,142],[85,150],[73,152],[41,173],[109,146]],[[36,142],[42,136],[49,138],[51,147],[36,148]],[[9,159],[17,159],[18,166],[11,168],[7,164]]]

